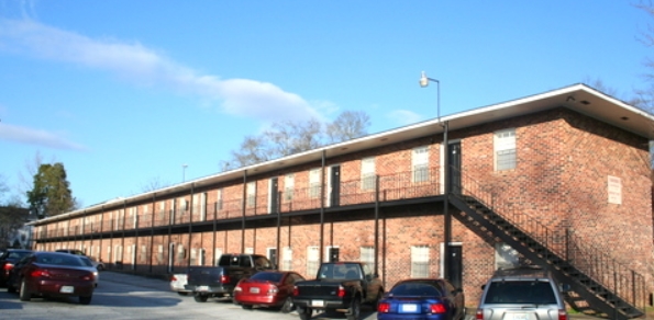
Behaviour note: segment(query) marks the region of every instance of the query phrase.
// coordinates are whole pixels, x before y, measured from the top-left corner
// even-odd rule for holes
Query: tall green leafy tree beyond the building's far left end
[[[30,208],[40,218],[57,216],[75,209],[75,198],[66,180],[64,164],[41,164],[34,174],[34,186],[27,192]]]

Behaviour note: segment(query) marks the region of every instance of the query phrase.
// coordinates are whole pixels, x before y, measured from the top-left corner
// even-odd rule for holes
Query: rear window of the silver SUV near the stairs
[[[484,302],[554,305],[556,304],[556,297],[550,282],[492,282]]]

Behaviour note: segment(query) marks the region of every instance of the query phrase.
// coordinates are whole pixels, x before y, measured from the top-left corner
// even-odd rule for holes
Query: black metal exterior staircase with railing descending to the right
[[[574,237],[566,232],[553,232],[533,217],[500,215],[498,207],[501,205],[498,206],[497,198],[483,202],[464,195],[469,188],[456,190],[462,193],[450,195],[450,203],[458,209],[454,216],[488,243],[505,242],[521,259],[548,267],[559,283],[570,286],[565,298],[573,309],[620,320],[644,316],[644,277],[612,259],[606,259],[606,253],[581,250],[578,245],[581,241],[572,241]],[[511,212],[510,208],[507,210]]]

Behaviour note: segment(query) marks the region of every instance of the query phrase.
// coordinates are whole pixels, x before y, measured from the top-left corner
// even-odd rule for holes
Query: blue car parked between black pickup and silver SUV
[[[412,278],[397,283],[377,305],[378,320],[464,320],[465,298],[443,278]]]

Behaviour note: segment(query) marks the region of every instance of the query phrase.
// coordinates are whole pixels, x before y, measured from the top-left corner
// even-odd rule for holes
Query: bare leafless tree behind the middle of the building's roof
[[[365,112],[351,111],[343,112],[329,124],[318,119],[277,122],[258,136],[245,137],[239,149],[231,151],[231,159],[219,163],[220,170],[252,165],[358,138],[367,134],[369,125],[370,117]]]

